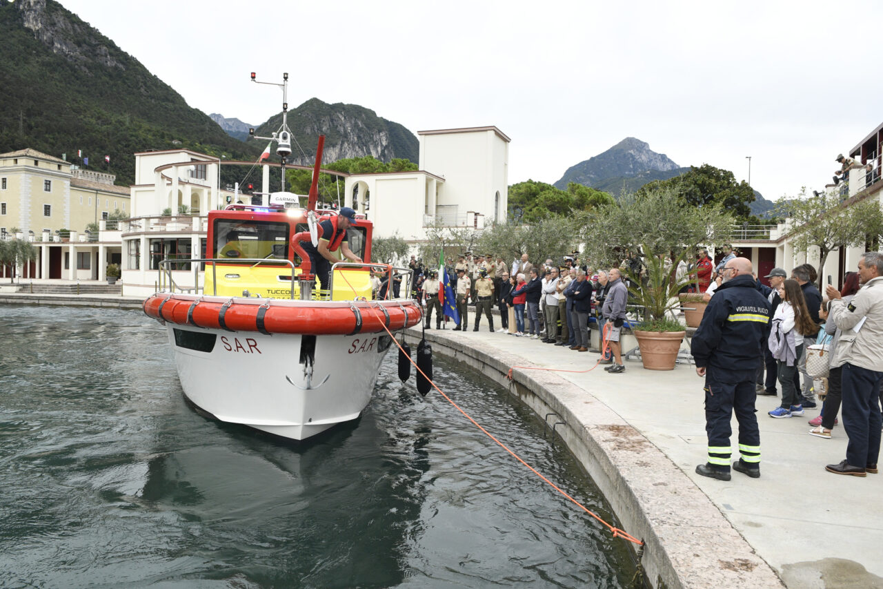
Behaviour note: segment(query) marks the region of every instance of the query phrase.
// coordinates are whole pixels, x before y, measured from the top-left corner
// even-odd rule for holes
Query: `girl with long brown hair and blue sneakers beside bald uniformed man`
[[[779,296],[781,304],[775,311],[769,338],[781,385],[781,406],[769,412],[770,417],[776,418],[804,415],[803,397],[797,388],[797,364],[804,353],[804,337],[819,333],[799,282],[785,280],[779,287]]]

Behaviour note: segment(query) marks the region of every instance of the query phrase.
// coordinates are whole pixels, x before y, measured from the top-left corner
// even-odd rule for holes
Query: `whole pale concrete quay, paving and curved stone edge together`
[[[728,482],[713,480],[695,473],[707,440],[704,383],[692,364],[647,371],[630,360],[619,374],[587,371],[597,354],[489,333],[485,321],[481,330],[426,330],[426,340],[436,354],[509,386],[539,419],[555,412],[549,425],[563,422],[556,432],[619,526],[645,539],[642,563],[654,587],[883,588],[883,475],[825,471],[846,455],[847,440],[841,426],[831,440],[808,434],[818,409],[773,419],[766,411],[779,399],[758,397],[761,477],[733,471]],[[406,333],[411,342],[419,335]],[[516,368],[510,383],[513,366],[562,371]],[[738,459],[735,418],[733,429]]]

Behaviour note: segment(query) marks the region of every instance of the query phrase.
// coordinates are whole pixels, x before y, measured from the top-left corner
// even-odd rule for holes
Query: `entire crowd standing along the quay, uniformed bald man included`
[[[413,256],[410,265],[412,295],[426,305],[425,328],[432,328],[433,315],[434,327],[443,328],[449,317],[440,304],[445,285],[438,271],[426,269]],[[864,254],[857,272],[839,277],[840,289],[828,277],[825,295],[815,286],[819,277],[811,264],[791,272],[774,268],[763,277],[767,286],[751,260],[729,248],[717,264],[700,249],[691,264],[679,264],[676,272],[678,279],[693,276],[684,290],[703,294],[709,303],[692,339],[697,372],[706,378],[709,447],[699,474],[729,480],[732,468],[759,476],[758,395],[780,397],[779,406],[768,412],[776,419],[804,417],[808,409],[819,409],[808,425],[809,433],[822,439],[831,438],[840,413],[849,437],[847,456],[826,470],[854,476],[878,471],[883,254]],[[500,256],[466,252],[448,273],[460,319],[454,331],[468,331],[472,308],[473,332],[485,317],[490,332],[589,352],[589,325],[595,322],[609,343],[609,354],[600,356],[599,363],[612,373],[625,371],[619,343],[629,303],[625,276],[645,275],[639,252],[627,252],[622,264],[609,270],[592,269],[576,254],[562,256],[561,264],[551,259],[533,264],[526,254],[507,263]],[[494,306],[502,324],[497,330]],[[808,370],[811,350],[828,363],[824,379],[817,378],[818,370]],[[734,412],[740,458],[731,466],[729,422]]]

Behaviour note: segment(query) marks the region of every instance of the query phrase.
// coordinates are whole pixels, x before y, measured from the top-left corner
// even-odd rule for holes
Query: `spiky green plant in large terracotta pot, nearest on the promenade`
[[[687,277],[683,282],[675,279],[673,266],[686,256],[684,249],[676,256],[674,264],[667,264],[665,254],[648,252],[645,259],[646,284],[642,285],[640,276],[630,276],[632,287],[629,288],[631,302],[638,305],[643,319],[635,327],[635,339],[641,350],[641,362],[652,371],[671,371],[675,369],[677,352],[681,348],[686,330],[670,311],[680,306],[678,291],[690,284]]]

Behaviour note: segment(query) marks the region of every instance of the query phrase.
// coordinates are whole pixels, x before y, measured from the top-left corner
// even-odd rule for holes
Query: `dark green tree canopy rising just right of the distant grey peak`
[[[644,196],[650,191],[664,187],[675,189],[686,203],[694,207],[716,203],[732,212],[740,222],[751,218],[749,205],[755,200],[754,189],[744,180],[736,182],[733,172],[728,170],[721,170],[709,164],[691,166],[690,172],[668,180],[653,180],[638,188],[635,194]]]

